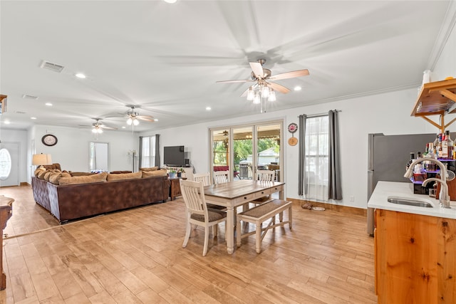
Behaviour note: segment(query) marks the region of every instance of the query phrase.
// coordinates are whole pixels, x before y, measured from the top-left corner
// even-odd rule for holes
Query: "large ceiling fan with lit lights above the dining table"
[[[271,80],[282,80],[309,75],[309,70],[307,69],[272,75],[271,70],[263,68],[265,62],[266,59],[258,59],[257,62],[249,63],[250,68],[252,68],[251,79],[222,80],[217,81],[217,83],[254,83],[254,85],[251,85],[241,96],[247,95],[247,100],[254,100],[254,103],[256,103],[255,98],[258,98],[257,103],[259,103],[260,97],[269,98],[270,95],[274,96],[274,98],[273,100],[269,98],[269,100],[274,101],[275,90],[284,94],[290,92],[289,88],[284,87],[284,85],[279,85],[278,83],[272,83]]]

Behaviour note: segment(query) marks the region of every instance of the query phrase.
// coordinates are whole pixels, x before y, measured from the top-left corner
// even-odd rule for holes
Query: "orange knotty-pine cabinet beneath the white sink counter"
[[[456,220],[375,210],[378,303],[456,303]]]

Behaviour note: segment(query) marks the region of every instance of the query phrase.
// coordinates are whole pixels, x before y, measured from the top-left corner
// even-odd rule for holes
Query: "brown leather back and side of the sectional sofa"
[[[166,201],[170,192],[167,177],[66,185],[56,185],[32,177],[31,185],[35,201],[50,211],[61,224],[73,219]]]

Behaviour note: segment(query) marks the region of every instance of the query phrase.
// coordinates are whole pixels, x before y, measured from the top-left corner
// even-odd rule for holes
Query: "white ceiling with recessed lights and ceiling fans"
[[[269,112],[416,88],[438,55],[449,5],[2,0],[0,93],[8,112],[1,127],[90,126],[100,117],[120,128],[126,119],[112,116],[125,114],[125,105],[158,119],[139,131],[256,114],[259,106],[240,97],[248,84],[216,81],[249,79],[249,62],[259,58],[273,75],[310,72],[276,81],[303,90],[277,93]],[[65,68],[46,70],[42,61]],[[87,78],[75,78],[79,72]]]

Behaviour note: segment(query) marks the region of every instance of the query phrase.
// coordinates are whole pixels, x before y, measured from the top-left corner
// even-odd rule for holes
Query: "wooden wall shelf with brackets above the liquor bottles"
[[[455,118],[445,125],[445,114],[452,113],[456,113],[456,79],[425,83],[411,116],[423,117],[443,133],[456,120]],[[440,124],[430,120],[427,115],[440,115]]]

